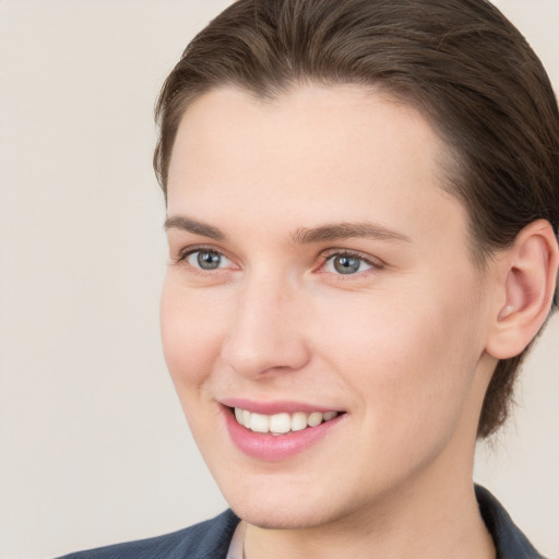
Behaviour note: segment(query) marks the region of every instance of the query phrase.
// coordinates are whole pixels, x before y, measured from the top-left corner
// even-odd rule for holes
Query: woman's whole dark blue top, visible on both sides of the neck
[[[493,538],[497,559],[543,559],[487,489],[476,486],[476,497]],[[165,536],[99,547],[60,559],[225,559],[239,522],[227,510],[213,520]]]

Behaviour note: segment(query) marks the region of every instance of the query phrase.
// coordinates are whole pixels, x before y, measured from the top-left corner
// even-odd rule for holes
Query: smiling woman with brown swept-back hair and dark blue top
[[[484,0],[239,0],[157,117],[164,350],[233,512],[69,557],[540,557],[472,483],[557,306],[520,33]]]

